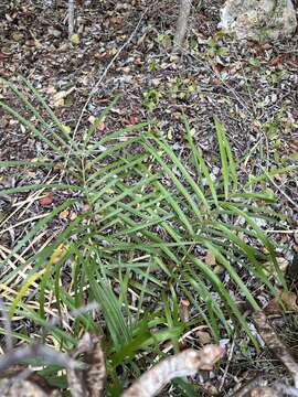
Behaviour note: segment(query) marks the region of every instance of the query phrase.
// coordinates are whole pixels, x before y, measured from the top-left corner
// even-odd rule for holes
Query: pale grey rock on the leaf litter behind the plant
[[[219,28],[240,40],[275,41],[291,36],[297,19],[291,0],[226,0]]]

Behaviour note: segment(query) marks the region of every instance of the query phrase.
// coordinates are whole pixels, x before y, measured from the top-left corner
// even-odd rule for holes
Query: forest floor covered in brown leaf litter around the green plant
[[[283,43],[238,43],[217,30],[223,1],[193,3],[180,55],[171,52],[178,14],[172,1],[91,1],[77,8],[78,40],[72,43],[65,2],[45,9],[35,1],[15,1],[13,6],[4,0],[0,6],[0,77],[26,77],[71,129],[81,117],[79,130],[88,128],[119,94],[97,128],[98,137],[156,119],[180,158],[185,150],[183,110],[215,178],[214,115],[224,125],[246,176],[294,163],[298,152],[298,35]],[[12,100],[8,89],[1,88],[1,97]],[[46,155],[51,153],[43,143],[0,110],[0,160]],[[0,189],[52,176],[45,171],[2,169]],[[298,227],[297,172],[275,179],[268,187],[278,195],[279,210],[291,219],[292,233],[274,236],[288,246],[286,260],[290,262],[298,251],[294,233]],[[10,200],[0,196],[0,221],[1,211],[3,215],[10,206]],[[22,216],[30,218],[40,211],[36,201]],[[1,246],[11,249],[25,233],[21,227],[8,227],[21,221],[12,218],[6,225]],[[64,227],[64,221],[57,219],[56,227]],[[270,363],[274,367],[274,361]],[[267,364],[269,369],[272,364]],[[259,364],[240,360],[230,364],[231,384],[247,376],[243,373],[248,365],[249,371],[254,365],[259,368]]]

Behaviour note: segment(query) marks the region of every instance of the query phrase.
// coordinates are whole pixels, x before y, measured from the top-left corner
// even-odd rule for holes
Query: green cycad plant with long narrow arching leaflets
[[[12,325],[29,319],[58,348],[74,346],[83,330],[103,334],[115,395],[131,373],[138,376],[162,354],[164,342],[178,352],[183,333],[198,325],[207,325],[214,342],[242,328],[257,345],[237,300],[257,310],[255,289],[272,296],[277,286],[286,289],[275,245],[257,222],[276,222],[279,215],[270,191],[256,192],[253,180],[240,183],[222,124],[214,120],[221,163],[214,179],[184,117],[188,161],[152,122],[97,138],[97,126],[115,100],[86,133],[73,135],[28,81],[2,84],[23,111],[4,100],[1,108],[50,154],[0,167],[49,168],[55,178],[1,194],[26,202],[46,190],[66,197],[43,210],[12,248],[1,248],[0,288]],[[32,248],[32,240],[67,211],[75,216],[60,234]],[[10,216],[3,216],[2,227]],[[181,298],[190,303],[187,318]],[[77,311],[94,301],[98,311]],[[58,321],[49,323],[53,318]],[[13,334],[30,339],[25,325]]]

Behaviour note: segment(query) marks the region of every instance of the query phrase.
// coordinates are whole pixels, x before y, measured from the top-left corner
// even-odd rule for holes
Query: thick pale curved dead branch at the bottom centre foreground
[[[173,378],[195,375],[199,369],[213,369],[223,355],[224,350],[216,345],[206,345],[201,351],[185,350],[148,369],[123,397],[153,397]]]

